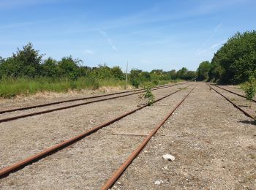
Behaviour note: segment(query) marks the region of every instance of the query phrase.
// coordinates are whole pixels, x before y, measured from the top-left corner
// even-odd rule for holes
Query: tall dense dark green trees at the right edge
[[[244,83],[256,78],[256,31],[236,33],[214,54],[211,63],[203,61],[197,80],[217,83]]]

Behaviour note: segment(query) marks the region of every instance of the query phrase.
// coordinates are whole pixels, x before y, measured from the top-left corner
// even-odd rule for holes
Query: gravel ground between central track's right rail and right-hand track
[[[256,131],[249,121],[200,83],[113,189],[255,189]],[[166,153],[176,159],[162,159]]]

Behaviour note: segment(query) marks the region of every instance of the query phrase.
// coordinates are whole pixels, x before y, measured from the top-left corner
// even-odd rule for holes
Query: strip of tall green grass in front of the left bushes
[[[172,81],[176,82],[176,81]],[[170,83],[162,80],[156,82],[147,82],[140,84],[143,86],[157,86]],[[125,80],[97,80],[94,77],[79,77],[78,80],[53,79],[48,77],[31,78],[2,78],[0,80],[0,97],[12,98],[17,95],[36,94],[37,92],[67,92],[69,90],[81,91],[83,89],[98,89],[100,87],[121,87],[126,86]]]

